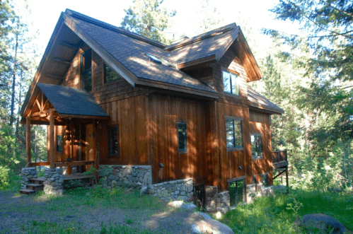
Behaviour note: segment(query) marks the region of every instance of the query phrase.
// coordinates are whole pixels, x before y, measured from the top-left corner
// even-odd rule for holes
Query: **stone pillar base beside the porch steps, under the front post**
[[[45,168],[45,194],[62,194],[64,189],[64,178],[62,177],[62,168]]]

